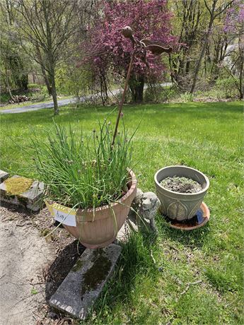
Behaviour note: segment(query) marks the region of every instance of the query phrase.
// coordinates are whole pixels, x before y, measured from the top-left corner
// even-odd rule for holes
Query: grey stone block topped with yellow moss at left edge
[[[20,177],[14,175],[13,178]],[[28,191],[22,194],[10,195],[7,194],[6,185],[4,182],[0,184],[0,199],[8,203],[16,204],[18,206],[23,206],[31,211],[38,211],[42,206],[42,196],[44,192],[44,183],[33,181]]]

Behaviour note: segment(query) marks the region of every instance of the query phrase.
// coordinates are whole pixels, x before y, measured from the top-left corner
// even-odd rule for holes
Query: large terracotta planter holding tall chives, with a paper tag
[[[128,184],[129,191],[119,201],[111,203],[110,206],[101,206],[95,210],[72,210],[57,203],[46,202],[47,208],[54,215],[55,220],[61,221],[60,216],[64,216],[62,222],[64,228],[85,247],[91,249],[106,247],[117,237],[117,232],[122,228],[136,196],[136,177],[132,170],[129,174],[132,179]],[[71,218],[71,216],[73,217]],[[65,224],[68,223],[65,219],[69,219],[69,225]],[[74,225],[70,225],[72,223]]]

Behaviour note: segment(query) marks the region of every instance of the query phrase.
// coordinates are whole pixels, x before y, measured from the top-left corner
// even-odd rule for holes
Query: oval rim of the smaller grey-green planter
[[[173,168],[173,167],[180,167],[180,168],[184,168],[185,170],[193,170],[194,172],[197,172],[199,173],[200,175],[202,175],[202,177],[204,177],[205,181],[206,181],[206,185],[205,187],[202,189],[202,191],[198,191],[196,193],[183,193],[183,192],[176,192],[176,191],[171,191],[170,189],[166,189],[165,187],[163,187],[160,182],[163,180],[161,179],[160,182],[158,182],[158,174],[162,171],[162,170],[166,170],[166,169],[169,169],[169,168]],[[177,175],[180,177],[180,175]],[[191,177],[189,177],[190,179],[192,179]],[[173,193],[173,194],[176,194],[180,197],[185,197],[185,196],[196,196],[197,194],[202,194],[204,193],[205,191],[207,191],[209,189],[209,179],[206,175],[204,175],[203,172],[200,172],[199,170],[196,170],[192,167],[187,167],[187,166],[182,166],[182,165],[171,165],[171,166],[166,166],[166,167],[163,167],[161,168],[160,170],[158,170],[156,172],[156,174],[154,175],[154,181],[156,182],[156,184],[158,185],[158,187],[161,187],[162,189],[164,189],[165,191],[168,191],[169,193]]]

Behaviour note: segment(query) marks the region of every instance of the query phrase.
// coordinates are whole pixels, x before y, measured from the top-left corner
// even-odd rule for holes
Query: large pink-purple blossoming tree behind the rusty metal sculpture
[[[122,36],[120,28],[129,25],[137,40],[149,38],[165,47],[175,48],[177,39],[170,34],[172,14],[166,0],[103,1],[101,12],[95,25],[88,28],[82,63],[92,70],[105,102],[109,76],[115,80],[125,78],[132,53],[132,42]],[[146,81],[161,82],[165,75],[162,56],[148,51],[146,61],[148,64],[139,56],[134,59],[129,88],[135,102],[143,100]]]

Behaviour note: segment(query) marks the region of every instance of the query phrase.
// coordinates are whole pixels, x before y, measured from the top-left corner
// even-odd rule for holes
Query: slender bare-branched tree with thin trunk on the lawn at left
[[[42,69],[58,114],[55,69],[66,59],[69,40],[76,33],[74,0],[15,0],[21,45]],[[33,49],[33,53],[31,52]]]

